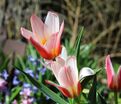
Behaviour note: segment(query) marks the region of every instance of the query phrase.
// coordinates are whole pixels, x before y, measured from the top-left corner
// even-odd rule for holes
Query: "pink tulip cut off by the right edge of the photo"
[[[118,69],[118,73],[115,74],[110,55],[106,57],[105,64],[108,87],[113,91],[121,90],[121,66]]]

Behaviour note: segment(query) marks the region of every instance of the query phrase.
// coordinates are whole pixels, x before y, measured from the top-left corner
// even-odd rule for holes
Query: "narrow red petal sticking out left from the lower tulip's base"
[[[57,85],[57,84],[55,84],[54,82],[49,81],[49,80],[46,80],[45,82],[46,82],[47,84],[50,84],[50,85],[56,87],[60,92],[62,92],[62,94],[63,94],[64,96],[72,98],[71,94],[69,93],[69,91],[68,91],[66,88],[61,87],[61,86],[59,86],[59,85]]]

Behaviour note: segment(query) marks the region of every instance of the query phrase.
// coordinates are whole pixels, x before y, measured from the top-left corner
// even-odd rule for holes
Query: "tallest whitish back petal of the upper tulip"
[[[49,34],[54,34],[59,32],[59,17],[54,12],[48,12],[45,20],[45,31]]]

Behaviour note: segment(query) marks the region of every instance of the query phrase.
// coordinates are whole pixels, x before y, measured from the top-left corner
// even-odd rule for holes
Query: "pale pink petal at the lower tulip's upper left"
[[[57,80],[58,80],[59,71],[61,70],[62,67],[63,66],[60,63],[56,62],[56,61],[51,62],[51,70],[53,71],[53,73],[54,73]]]

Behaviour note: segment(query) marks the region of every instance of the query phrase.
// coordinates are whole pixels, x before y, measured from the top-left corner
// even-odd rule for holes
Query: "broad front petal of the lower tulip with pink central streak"
[[[58,73],[58,82],[64,88],[70,88],[75,85],[75,80],[73,78],[73,71],[71,67],[62,67]]]

